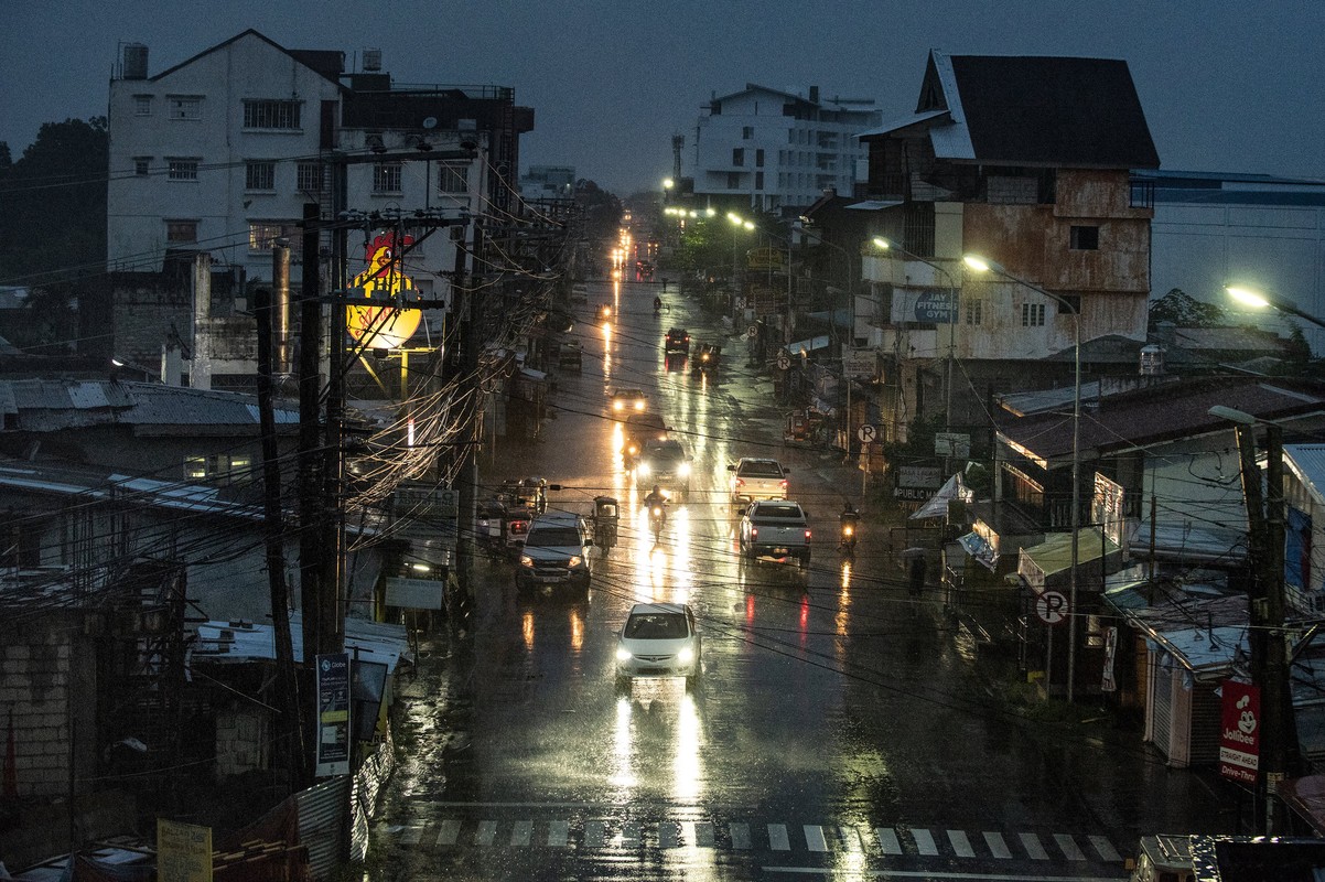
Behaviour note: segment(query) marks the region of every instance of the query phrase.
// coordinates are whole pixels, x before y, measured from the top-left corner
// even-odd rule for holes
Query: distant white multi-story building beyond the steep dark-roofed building
[[[825,189],[849,195],[869,151],[856,135],[880,124],[873,99],[795,94],[746,83],[709,101],[694,135],[694,193],[712,203],[794,215]]]

